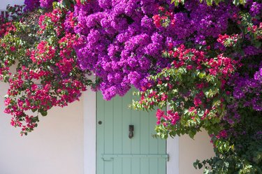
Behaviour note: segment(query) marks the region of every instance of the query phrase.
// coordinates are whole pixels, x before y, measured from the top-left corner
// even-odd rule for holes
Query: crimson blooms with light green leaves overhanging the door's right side
[[[133,106],[163,108],[168,102],[171,109],[168,116],[160,109],[157,111],[157,124],[161,124],[159,132],[168,127],[170,135],[189,133],[194,136],[201,125],[205,128],[204,122],[214,124],[218,116],[223,115],[228,98],[224,90],[226,81],[238,68],[238,61],[223,55],[208,57],[207,52],[187,49],[184,45],[163,52],[163,56],[170,57],[173,62],[150,77],[148,83],[151,84],[144,87],[140,101]]]

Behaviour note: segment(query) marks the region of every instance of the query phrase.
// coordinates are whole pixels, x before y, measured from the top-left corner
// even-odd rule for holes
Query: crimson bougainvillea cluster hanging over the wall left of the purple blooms
[[[62,10],[58,6],[36,17],[33,26],[24,25],[30,17],[15,22],[16,28],[13,23],[3,25],[8,26],[0,39],[1,80],[9,83],[5,113],[13,116],[11,124],[20,126],[22,135],[34,130],[39,114],[78,100],[90,84],[73,50],[78,36],[64,31]],[[17,66],[15,73],[10,66]]]

